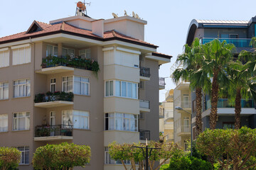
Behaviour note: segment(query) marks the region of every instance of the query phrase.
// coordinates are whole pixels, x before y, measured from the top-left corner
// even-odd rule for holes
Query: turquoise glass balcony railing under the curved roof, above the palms
[[[217,38],[201,38],[201,43],[205,44],[215,39]],[[218,40],[220,40],[220,42],[225,40],[227,43],[235,45],[235,47],[252,47],[250,46],[250,38],[218,38]]]

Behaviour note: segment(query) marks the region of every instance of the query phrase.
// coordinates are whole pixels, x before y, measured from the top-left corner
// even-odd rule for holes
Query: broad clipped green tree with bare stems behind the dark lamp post
[[[109,147],[111,159],[120,160],[124,166],[124,169],[127,170],[127,165],[124,164],[125,160],[129,160],[131,162],[133,170],[137,170],[135,162],[139,162],[139,170],[143,169],[144,155],[142,153],[142,149],[138,147],[146,147],[146,145],[142,143],[118,144],[117,142],[112,142]],[[173,157],[174,155],[181,155],[182,153],[182,150],[178,147],[178,145],[174,143],[166,145],[163,143],[151,141],[149,143],[149,147],[159,148],[152,149],[151,151],[149,166],[152,170],[159,169],[160,166],[164,164],[169,158]],[[155,162],[159,161],[160,159],[164,159],[164,161],[154,168]]]

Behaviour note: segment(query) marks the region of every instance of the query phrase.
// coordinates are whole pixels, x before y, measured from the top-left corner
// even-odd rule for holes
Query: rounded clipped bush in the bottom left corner
[[[21,160],[21,152],[14,147],[0,147],[0,169],[16,169]]]

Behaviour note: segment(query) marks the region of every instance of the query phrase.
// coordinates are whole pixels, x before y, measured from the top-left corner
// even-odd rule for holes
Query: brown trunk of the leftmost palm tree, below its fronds
[[[196,137],[203,131],[202,128],[202,88],[196,88]],[[192,118],[192,116],[191,116]]]

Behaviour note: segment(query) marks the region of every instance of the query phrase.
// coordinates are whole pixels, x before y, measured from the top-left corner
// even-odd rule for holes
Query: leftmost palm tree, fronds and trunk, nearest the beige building
[[[184,45],[184,52],[182,55],[178,55],[176,62],[183,64],[183,68],[176,69],[173,73],[174,81],[183,79],[190,82],[191,89],[196,89],[196,136],[202,131],[202,89],[206,85],[210,85],[210,79],[207,77],[207,73],[201,69],[203,63],[203,55],[201,53],[201,45],[196,38],[193,44],[190,46]],[[192,116],[191,116],[192,118]]]

